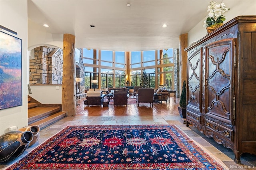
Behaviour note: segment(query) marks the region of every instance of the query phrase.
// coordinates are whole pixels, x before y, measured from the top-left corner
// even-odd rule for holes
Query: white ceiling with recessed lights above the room
[[[131,6],[127,7],[127,3]],[[178,48],[180,34],[206,18],[209,3],[210,0],[29,0],[28,19],[40,26],[48,24],[46,30],[53,36],[73,34],[76,48],[168,49]],[[162,28],[163,24],[167,28]]]

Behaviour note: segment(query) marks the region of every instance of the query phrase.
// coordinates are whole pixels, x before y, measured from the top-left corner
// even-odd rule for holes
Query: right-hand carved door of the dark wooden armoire
[[[219,40],[206,45],[206,127],[230,137],[232,130],[234,39]],[[216,125],[216,124],[218,125]],[[223,127],[222,127],[223,126]],[[226,128],[225,128],[226,127]],[[225,134],[226,133],[226,134]]]

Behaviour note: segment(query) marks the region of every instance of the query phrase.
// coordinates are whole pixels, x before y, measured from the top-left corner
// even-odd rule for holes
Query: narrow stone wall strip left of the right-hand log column
[[[174,58],[174,90],[177,90],[176,97],[180,98],[180,49],[173,49]]]

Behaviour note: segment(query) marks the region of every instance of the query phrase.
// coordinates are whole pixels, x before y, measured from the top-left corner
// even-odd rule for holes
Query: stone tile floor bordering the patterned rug
[[[166,104],[167,105],[167,104]],[[112,109],[114,106],[110,106],[108,109]],[[129,110],[132,110],[129,108]],[[134,107],[134,106],[133,106]],[[135,106],[136,107],[136,106]],[[164,109],[164,105],[156,105],[154,109]],[[166,106],[167,107],[167,106]],[[115,108],[115,107],[114,107]],[[102,108],[101,108],[102,109]],[[118,108],[117,108],[118,109]],[[120,108],[119,108],[120,109]],[[153,109],[153,110],[154,110]],[[88,109],[90,110],[90,108]],[[104,110],[104,108],[103,108]],[[177,109],[178,110],[178,109]],[[87,112],[86,108],[84,108],[84,112]],[[104,110],[104,113],[106,111]],[[124,112],[123,112],[124,113]],[[1,163],[0,169],[4,170],[9,165],[13,164],[14,162],[18,161],[20,158],[28,154],[31,150],[36,148],[39,144],[62,130],[64,127],[68,125],[154,125],[154,124],[171,124],[176,125],[180,129],[182,129],[190,138],[192,138],[198,145],[200,145],[208,154],[214,157],[220,164],[227,167],[230,170],[256,170],[256,155],[251,154],[243,154],[241,157],[242,164],[234,163],[234,154],[231,149],[226,148],[220,144],[217,144],[212,138],[207,138],[204,134],[200,133],[196,128],[186,127],[183,123],[185,119],[180,118],[178,114],[169,114],[169,115],[158,115],[152,114],[150,116],[147,115],[138,115],[138,114],[116,114],[116,115],[99,115],[99,116],[90,116],[88,114],[78,114],[71,117],[65,117],[60,121],[40,130],[40,138],[38,142],[36,142],[33,146],[28,148],[22,156],[13,160],[12,162]]]

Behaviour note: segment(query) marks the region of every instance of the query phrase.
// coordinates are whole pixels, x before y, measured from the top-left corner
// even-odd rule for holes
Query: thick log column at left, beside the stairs
[[[76,115],[75,92],[75,36],[64,34],[63,36],[63,79],[62,79],[62,111],[68,112],[68,116]]]

